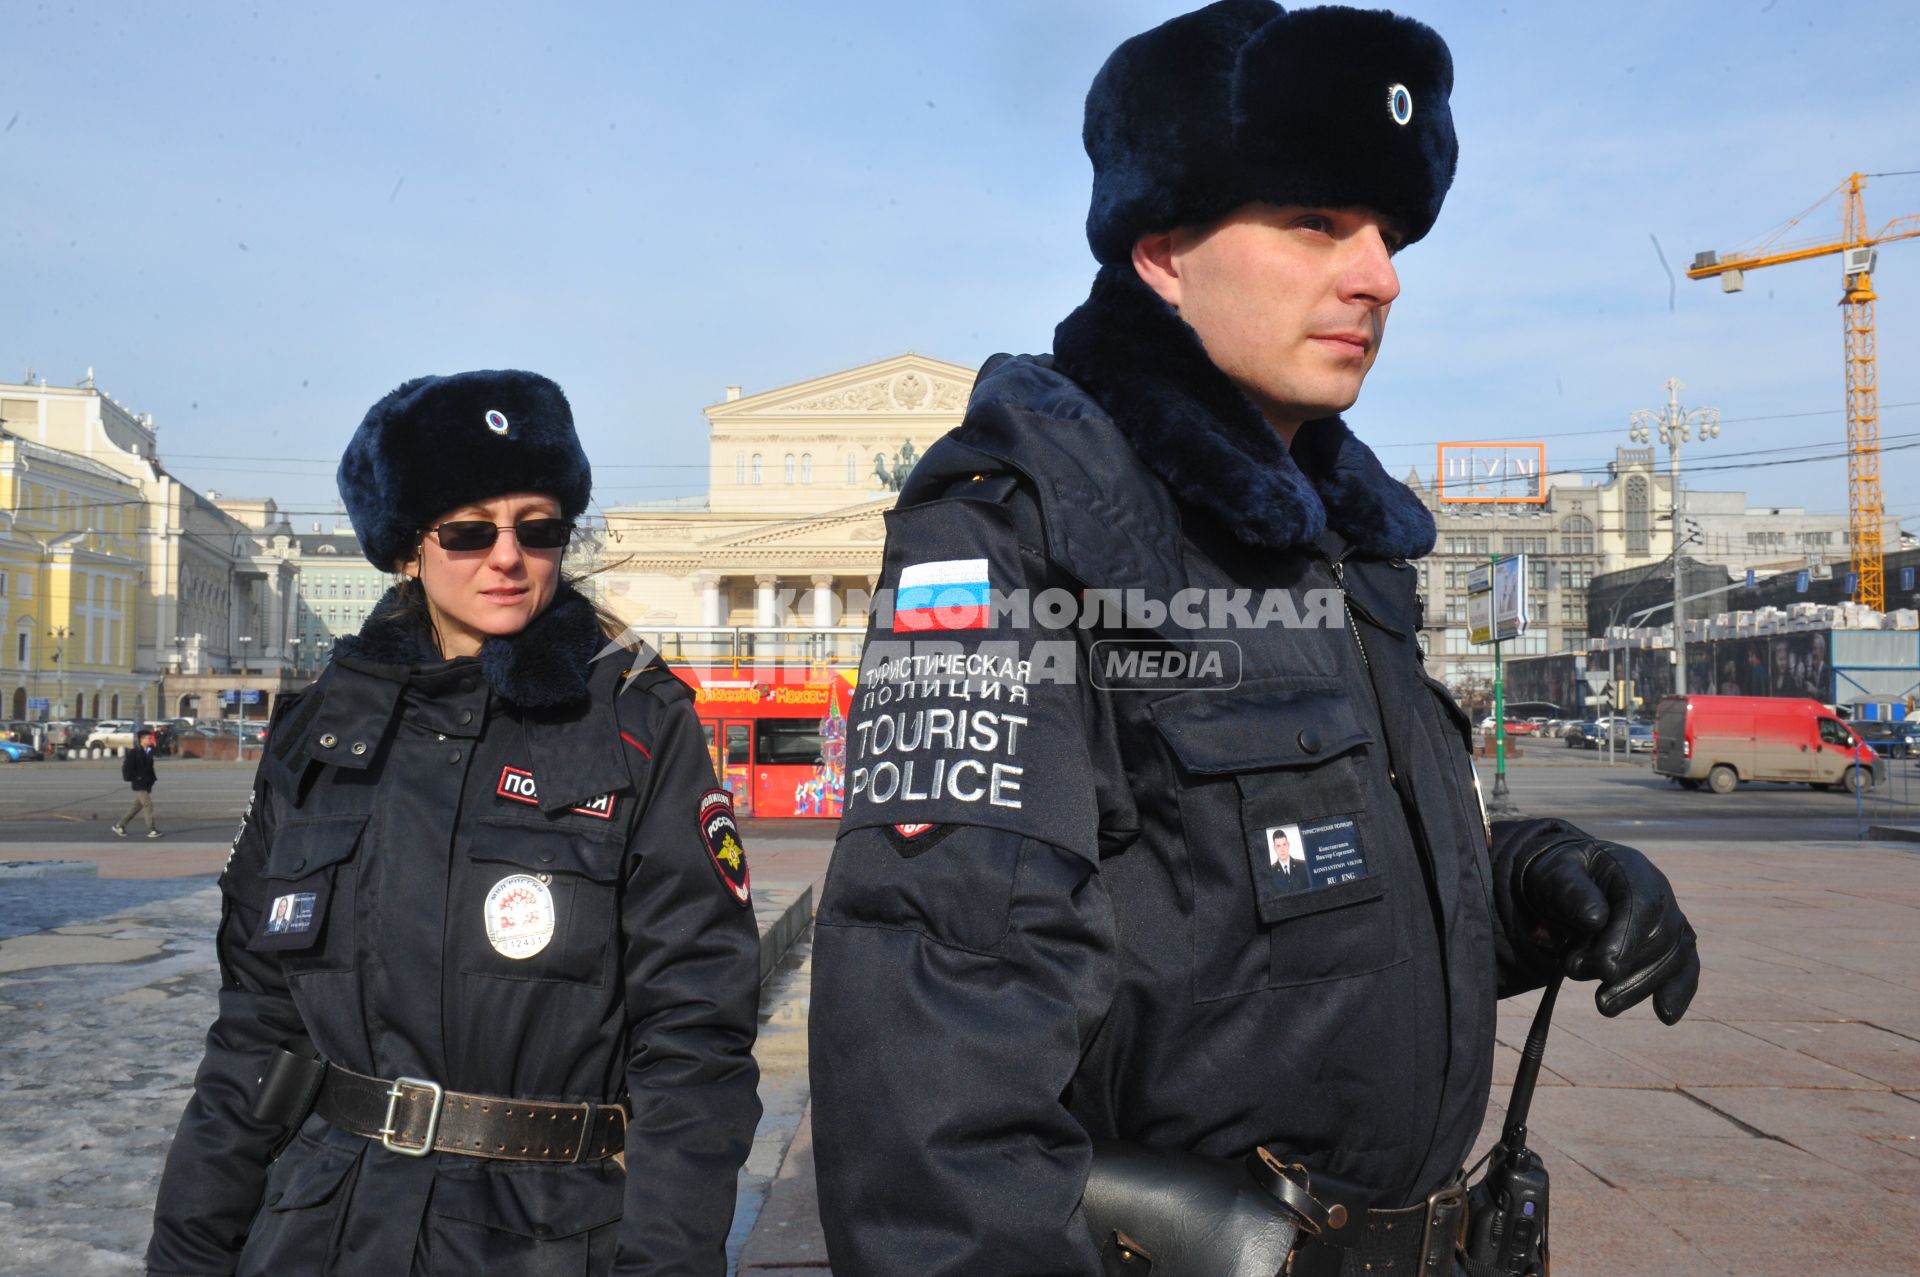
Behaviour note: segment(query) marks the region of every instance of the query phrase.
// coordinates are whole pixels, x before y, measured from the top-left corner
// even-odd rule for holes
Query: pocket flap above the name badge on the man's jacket
[[[1306,766],[1373,739],[1338,687],[1181,691],[1146,714],[1188,772]]]

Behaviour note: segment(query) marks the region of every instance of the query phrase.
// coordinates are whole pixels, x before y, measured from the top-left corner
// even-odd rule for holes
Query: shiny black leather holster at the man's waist
[[[1094,1141],[1081,1214],[1106,1277],[1277,1277],[1304,1225],[1238,1162]]]

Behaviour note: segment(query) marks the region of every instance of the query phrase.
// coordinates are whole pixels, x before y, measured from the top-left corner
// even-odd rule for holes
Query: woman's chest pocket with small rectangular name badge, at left
[[[248,949],[278,952],[288,976],[351,970],[355,853],[365,831],[365,812],[278,824]]]

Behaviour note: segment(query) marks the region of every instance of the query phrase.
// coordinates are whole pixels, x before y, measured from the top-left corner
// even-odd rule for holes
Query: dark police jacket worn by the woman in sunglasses
[[[275,720],[148,1271],[720,1277],[760,1114],[758,931],[701,833],[691,693],[595,663],[572,591],[480,659],[422,657],[382,616]],[[543,945],[495,926],[509,879],[543,901]],[[271,1158],[255,1079],[296,1035],[376,1077],[624,1100],[626,1168],[411,1158],[319,1116]]]

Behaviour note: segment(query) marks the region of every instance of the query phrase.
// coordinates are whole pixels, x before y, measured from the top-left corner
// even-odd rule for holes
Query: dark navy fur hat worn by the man
[[[1425,236],[1453,182],[1453,60],[1411,17],[1219,0],[1125,40],[1087,92],[1087,240],[1127,261],[1156,230],[1256,200],[1369,207]]]

